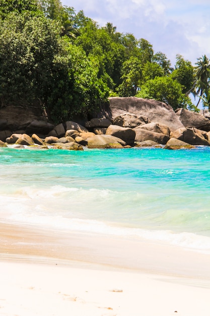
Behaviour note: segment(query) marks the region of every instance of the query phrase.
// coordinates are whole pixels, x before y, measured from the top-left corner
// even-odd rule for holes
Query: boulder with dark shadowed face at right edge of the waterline
[[[179,128],[178,130],[171,132],[170,136],[171,138],[180,139],[191,145],[210,145],[202,133],[196,132],[196,129],[194,128]]]

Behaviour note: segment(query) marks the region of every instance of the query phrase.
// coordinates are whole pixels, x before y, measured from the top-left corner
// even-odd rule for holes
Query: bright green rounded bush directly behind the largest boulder
[[[136,96],[165,102],[174,110],[192,107],[189,97],[182,93],[180,83],[166,76],[148,80]]]

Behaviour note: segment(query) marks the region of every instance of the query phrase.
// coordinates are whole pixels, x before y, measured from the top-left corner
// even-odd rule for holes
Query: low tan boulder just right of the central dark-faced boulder
[[[151,132],[140,127],[136,127],[134,131],[135,131],[135,142],[153,140],[156,143],[165,145],[170,138],[166,134]]]

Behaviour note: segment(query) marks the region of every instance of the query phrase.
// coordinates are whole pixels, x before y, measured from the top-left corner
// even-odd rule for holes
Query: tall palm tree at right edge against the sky
[[[196,107],[203,95],[208,95],[210,79],[210,60],[204,55],[195,64],[195,94],[199,96]],[[196,90],[197,89],[197,90]]]

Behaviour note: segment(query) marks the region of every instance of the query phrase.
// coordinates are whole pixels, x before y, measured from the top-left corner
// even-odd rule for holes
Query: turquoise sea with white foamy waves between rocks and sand
[[[0,220],[210,251],[210,149],[0,148]]]

